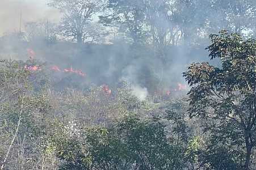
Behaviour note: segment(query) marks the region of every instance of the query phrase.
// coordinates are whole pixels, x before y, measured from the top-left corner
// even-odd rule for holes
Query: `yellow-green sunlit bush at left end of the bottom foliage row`
[[[60,169],[84,169],[85,152],[82,150],[82,143],[79,143],[79,133],[72,133],[74,125],[64,125],[61,122],[53,121],[50,126],[50,133],[47,135],[44,153],[56,155],[64,162]]]

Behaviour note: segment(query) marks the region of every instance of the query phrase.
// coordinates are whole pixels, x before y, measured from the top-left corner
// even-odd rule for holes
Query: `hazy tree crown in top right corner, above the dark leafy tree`
[[[256,28],[256,3],[253,0],[215,0],[211,2],[211,8],[214,16],[209,16],[209,22],[213,29],[229,29],[237,33],[243,31],[254,31]],[[212,15],[213,16],[213,15]]]

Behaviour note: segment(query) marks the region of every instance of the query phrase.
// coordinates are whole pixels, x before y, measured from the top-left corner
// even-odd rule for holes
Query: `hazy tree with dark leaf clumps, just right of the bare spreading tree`
[[[141,0],[108,0],[107,8],[107,14],[100,16],[102,23],[118,27],[119,31],[126,33],[135,44],[143,42],[145,12]]]

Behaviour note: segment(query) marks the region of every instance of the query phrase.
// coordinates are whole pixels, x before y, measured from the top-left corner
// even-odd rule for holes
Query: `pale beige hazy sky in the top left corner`
[[[47,6],[48,0],[0,0],[0,35],[18,31],[20,12],[22,22],[49,19],[58,21],[60,14]]]

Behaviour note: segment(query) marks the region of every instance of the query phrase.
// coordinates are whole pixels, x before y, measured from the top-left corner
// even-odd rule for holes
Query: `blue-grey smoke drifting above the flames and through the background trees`
[[[4,37],[3,35],[6,32],[17,32],[19,30],[20,13],[22,13],[23,32],[28,32],[24,27],[27,22],[38,22],[47,19],[49,22],[59,23],[61,14],[58,10],[48,7],[46,5],[47,0],[1,0],[0,58],[26,60],[28,59],[27,49],[31,48],[36,52],[35,59],[47,62],[49,67],[54,65],[62,69],[72,67],[75,70],[81,70],[82,73],[86,73],[86,77],[83,79],[80,76],[76,79],[70,78],[71,76],[68,75],[71,74],[64,74],[66,80],[60,81],[62,84],[80,83],[80,86],[86,86],[89,83],[97,86],[107,84],[111,89],[114,89],[119,82],[125,80],[132,84],[132,94],[140,100],[145,100],[147,96],[154,94],[154,92],[177,88],[178,83],[185,83],[182,73],[190,63],[207,60],[208,52],[204,48],[209,45],[208,33],[205,31],[200,35],[196,35],[196,32],[198,32],[196,29],[203,27],[204,16],[206,15],[204,12],[209,12],[205,8],[209,7],[202,8],[202,5],[194,5],[191,8],[186,8],[186,6],[180,5],[177,11],[181,11],[181,15],[165,17],[166,11],[162,10],[160,3],[158,1],[150,1],[155,2],[152,5],[156,8],[152,8],[152,14],[148,14],[152,15],[148,23],[150,22],[158,31],[155,33],[156,36],[159,36],[159,40],[161,40],[161,35],[166,35],[162,40],[166,38],[168,41],[153,44],[152,37],[147,37],[150,32],[147,32],[146,38],[143,40],[146,45],[131,45],[129,43],[131,42],[131,37],[125,37],[125,33],[118,30],[116,26],[114,29],[115,36],[111,32],[111,27],[104,27],[106,32],[110,32],[105,37],[108,37],[108,41],[112,43],[104,44],[98,42],[98,44],[78,47],[77,44],[62,39],[52,44],[47,44],[40,39],[41,37],[36,37],[42,35],[37,31],[41,29],[35,29],[32,27],[33,25],[31,25],[31,30],[36,32],[33,35],[35,39],[18,40],[15,36]],[[138,2],[137,6],[140,6],[139,2],[142,1],[132,2]],[[202,1],[198,0],[196,2]],[[204,3],[207,2],[204,1]],[[204,6],[207,5],[208,3]],[[210,13],[209,20],[216,18],[216,21],[221,22],[221,19],[219,19],[223,18],[221,14],[217,12],[215,14],[213,11]],[[217,24],[220,25],[220,23]],[[125,27],[125,24],[122,27]],[[181,31],[179,32],[181,27],[182,33]],[[219,28],[221,27],[217,29]],[[98,32],[101,28],[92,29]],[[170,33],[174,35],[172,36]],[[102,34],[100,36],[104,37]],[[169,41],[171,38],[173,40]],[[148,41],[152,43],[149,44]],[[166,42],[169,44],[166,45]],[[164,54],[159,54],[154,45],[163,49]],[[61,78],[62,75],[60,75]],[[83,82],[84,80],[86,83]]]

